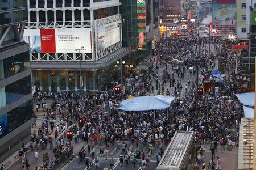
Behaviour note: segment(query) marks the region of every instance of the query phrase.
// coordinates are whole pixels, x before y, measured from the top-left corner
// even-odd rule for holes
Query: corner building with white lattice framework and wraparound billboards
[[[30,43],[33,86],[48,95],[105,90],[119,75],[116,61],[129,53],[122,48],[120,5],[119,0],[28,1],[24,39]]]

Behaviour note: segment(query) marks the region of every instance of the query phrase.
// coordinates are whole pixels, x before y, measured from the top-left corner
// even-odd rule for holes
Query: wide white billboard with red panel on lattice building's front
[[[92,53],[90,28],[25,29],[23,37],[31,53]]]

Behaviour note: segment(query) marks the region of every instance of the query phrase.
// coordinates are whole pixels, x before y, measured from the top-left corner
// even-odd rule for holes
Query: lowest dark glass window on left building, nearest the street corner
[[[8,114],[9,131],[14,130],[33,116],[32,99],[11,110]]]

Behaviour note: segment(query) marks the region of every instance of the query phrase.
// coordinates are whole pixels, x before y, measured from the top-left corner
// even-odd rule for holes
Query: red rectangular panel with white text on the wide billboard
[[[55,29],[40,29],[42,53],[55,53]]]

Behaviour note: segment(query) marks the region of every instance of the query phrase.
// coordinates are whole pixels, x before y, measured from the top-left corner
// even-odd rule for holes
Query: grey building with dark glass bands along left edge
[[[27,1],[0,1],[0,163],[31,139],[29,45],[23,40]]]

